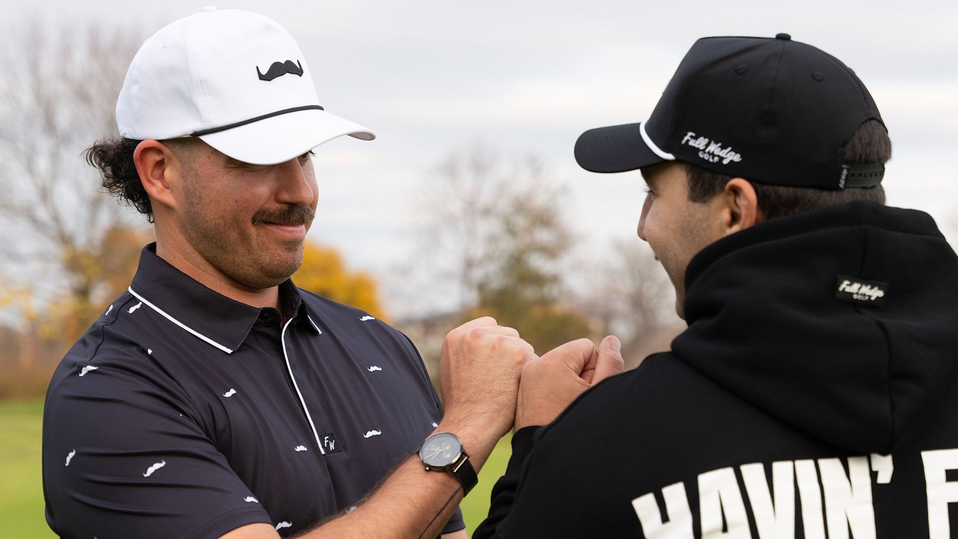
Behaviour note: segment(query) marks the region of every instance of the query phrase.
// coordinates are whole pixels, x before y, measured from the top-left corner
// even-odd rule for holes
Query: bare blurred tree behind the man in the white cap
[[[105,235],[134,222],[100,192],[81,152],[116,132],[117,96],[141,33],[37,21],[7,38],[0,53],[7,74],[0,82],[0,222],[17,233],[5,235],[0,256],[34,282],[65,280],[77,302],[89,305],[103,288]]]

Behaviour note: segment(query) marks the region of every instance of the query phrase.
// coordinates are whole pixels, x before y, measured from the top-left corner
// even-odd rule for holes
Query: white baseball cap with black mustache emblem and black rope
[[[282,163],[342,135],[376,138],[323,109],[303,53],[279,23],[212,6],[140,47],[120,90],[117,128],[135,140],[199,137],[256,165]]]

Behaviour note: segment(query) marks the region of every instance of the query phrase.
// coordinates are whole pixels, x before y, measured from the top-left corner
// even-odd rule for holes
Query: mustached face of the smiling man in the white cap
[[[199,141],[185,149],[176,230],[196,254],[250,289],[274,287],[303,263],[318,199],[309,153],[250,165]],[[177,151],[182,154],[181,151]]]

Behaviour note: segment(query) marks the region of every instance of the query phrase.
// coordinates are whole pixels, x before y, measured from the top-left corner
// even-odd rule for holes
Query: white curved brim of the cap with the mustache
[[[275,165],[302,155],[336,137],[373,140],[376,133],[325,110],[307,109],[270,116],[199,138],[234,159],[253,165]]]

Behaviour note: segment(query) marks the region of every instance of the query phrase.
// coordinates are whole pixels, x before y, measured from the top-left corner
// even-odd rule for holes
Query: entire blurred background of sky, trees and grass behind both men
[[[82,159],[115,131],[140,43],[203,2],[51,0],[0,21],[0,530],[47,537],[42,398],[69,346],[125,291],[151,227]],[[615,334],[627,365],[684,324],[635,235],[638,172],[593,175],[585,129],[645,119],[697,37],[780,32],[843,60],[894,147],[889,204],[958,237],[958,4],[231,2],[296,37],[322,105],[376,130],[317,149],[317,218],[296,283],[406,332],[437,374],[445,333],[490,315],[544,352]],[[508,444],[470,495],[485,515]],[[501,468],[500,468],[501,467]]]

